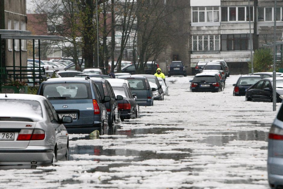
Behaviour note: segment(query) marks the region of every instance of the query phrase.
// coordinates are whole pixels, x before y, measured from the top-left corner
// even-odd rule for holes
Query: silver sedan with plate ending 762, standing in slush
[[[39,95],[0,94],[0,165],[54,163],[68,155],[69,135],[52,104]]]

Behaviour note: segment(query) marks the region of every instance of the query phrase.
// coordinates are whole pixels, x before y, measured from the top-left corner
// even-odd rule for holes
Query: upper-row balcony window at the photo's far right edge
[[[258,7],[257,8],[257,20],[263,21],[274,21],[274,7]],[[282,7],[276,8],[276,20],[281,21],[282,19]]]

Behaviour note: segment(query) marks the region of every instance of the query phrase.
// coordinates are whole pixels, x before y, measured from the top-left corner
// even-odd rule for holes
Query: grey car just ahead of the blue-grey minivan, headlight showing
[[[156,101],[164,100],[163,89],[156,76],[147,75],[147,74],[134,75],[134,76],[145,76],[148,79],[150,88],[151,89],[155,88],[155,90],[152,91],[153,100],[156,100]]]

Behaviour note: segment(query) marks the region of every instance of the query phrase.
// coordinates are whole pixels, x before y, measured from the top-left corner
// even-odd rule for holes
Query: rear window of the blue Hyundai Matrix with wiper
[[[92,99],[89,83],[78,82],[44,84],[40,95],[48,100]]]

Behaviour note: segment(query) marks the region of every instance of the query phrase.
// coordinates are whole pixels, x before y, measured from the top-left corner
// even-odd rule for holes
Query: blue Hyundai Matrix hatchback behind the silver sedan
[[[68,132],[91,133],[108,129],[108,114],[95,82],[91,79],[68,77],[52,78],[40,84],[38,95],[46,97],[54,106],[59,118],[71,116],[73,122],[65,124]]]

